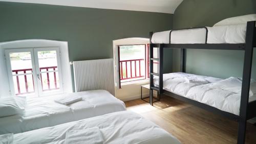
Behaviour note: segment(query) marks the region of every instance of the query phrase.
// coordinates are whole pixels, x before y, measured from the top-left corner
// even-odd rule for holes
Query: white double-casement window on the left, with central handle
[[[62,92],[58,47],[5,50],[11,95]]]

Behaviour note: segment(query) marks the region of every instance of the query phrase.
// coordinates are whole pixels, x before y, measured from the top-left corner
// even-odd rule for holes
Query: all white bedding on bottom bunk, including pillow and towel
[[[158,83],[158,77],[154,77],[154,85]],[[240,112],[241,85],[241,78],[219,79],[186,73],[163,75],[164,90],[236,115]],[[249,102],[256,100],[255,85],[251,80]]]

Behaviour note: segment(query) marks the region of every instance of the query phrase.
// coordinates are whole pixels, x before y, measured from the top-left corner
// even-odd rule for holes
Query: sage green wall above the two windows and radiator
[[[172,19],[154,12],[0,2],[0,42],[61,40],[68,41],[70,61],[113,58],[113,40],[149,38],[150,31],[172,29]],[[167,73],[172,63],[166,64]]]

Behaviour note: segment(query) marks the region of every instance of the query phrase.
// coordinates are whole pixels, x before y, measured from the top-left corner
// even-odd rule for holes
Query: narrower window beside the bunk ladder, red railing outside
[[[120,83],[142,80],[148,75],[148,46],[146,44],[118,45]]]

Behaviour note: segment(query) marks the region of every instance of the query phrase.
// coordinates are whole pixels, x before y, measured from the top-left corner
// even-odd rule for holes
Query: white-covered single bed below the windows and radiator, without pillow
[[[80,95],[82,101],[68,106],[54,102],[55,99],[67,95]],[[22,116],[0,118],[0,134],[26,132],[123,110],[126,110],[124,103],[105,90],[31,98],[27,100]]]

